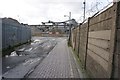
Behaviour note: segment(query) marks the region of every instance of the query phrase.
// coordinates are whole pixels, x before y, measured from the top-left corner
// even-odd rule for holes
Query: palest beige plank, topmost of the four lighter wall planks
[[[110,40],[111,30],[89,32],[89,37]]]

